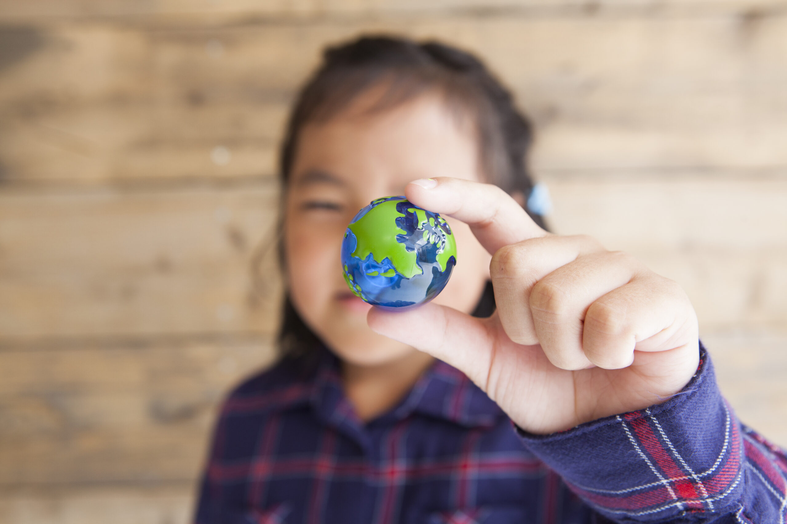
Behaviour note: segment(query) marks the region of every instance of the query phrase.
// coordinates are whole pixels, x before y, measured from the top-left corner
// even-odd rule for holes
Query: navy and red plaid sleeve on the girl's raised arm
[[[701,344],[696,374],[663,404],[560,433],[519,434],[612,522],[785,522],[785,451],[737,420]]]

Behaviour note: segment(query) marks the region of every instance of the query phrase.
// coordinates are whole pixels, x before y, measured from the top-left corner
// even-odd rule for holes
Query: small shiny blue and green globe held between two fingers
[[[448,222],[404,196],[373,200],[358,211],[342,241],[350,291],[372,306],[407,308],[434,299],[456,266]]]

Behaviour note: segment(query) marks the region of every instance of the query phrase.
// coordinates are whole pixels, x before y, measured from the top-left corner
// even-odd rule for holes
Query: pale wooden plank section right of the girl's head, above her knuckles
[[[545,178],[549,222],[556,233],[589,234],[634,253],[676,280],[704,333],[787,331],[787,181],[648,178]]]

